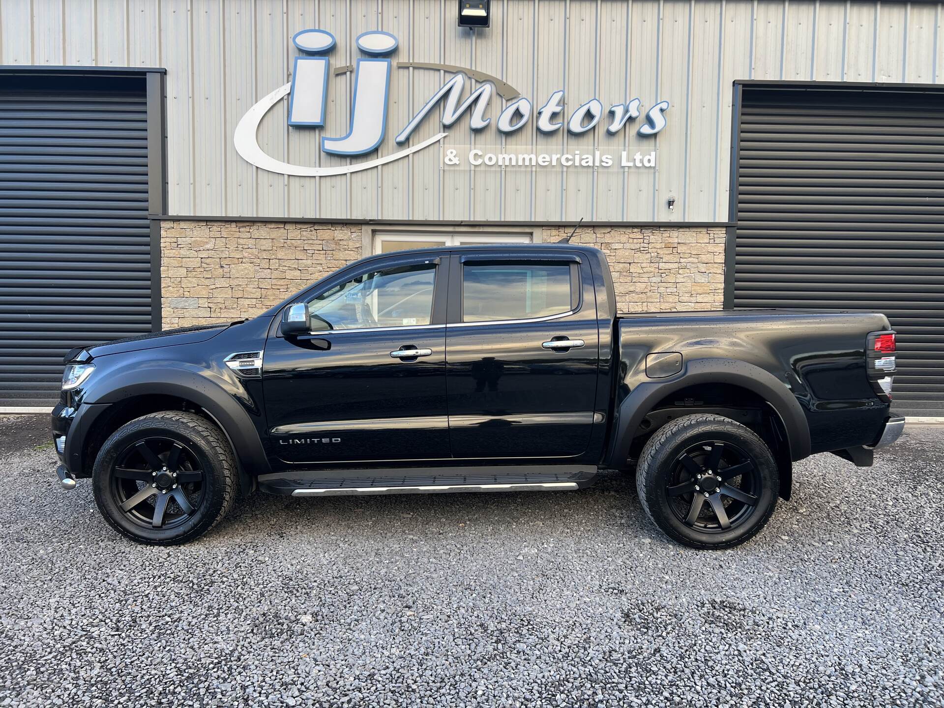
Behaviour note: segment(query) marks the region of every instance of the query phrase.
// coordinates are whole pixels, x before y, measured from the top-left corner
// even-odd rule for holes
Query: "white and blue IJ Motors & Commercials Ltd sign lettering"
[[[233,136],[236,150],[244,160],[269,172],[298,177],[329,177],[359,172],[395,160],[402,160],[447,137],[447,132],[440,132],[419,143],[409,144],[410,137],[416,128],[440,104],[442,104],[440,120],[444,127],[453,126],[467,112],[469,127],[477,132],[484,130],[491,124],[492,119],[485,117],[485,111],[488,110],[493,93],[497,92],[497,86],[502,87],[498,93],[508,101],[495,124],[499,134],[512,134],[533,121],[536,129],[542,134],[553,134],[566,129],[572,135],[581,135],[602,123],[606,126],[607,134],[615,136],[629,129],[627,124],[640,117],[641,102],[638,98],[633,98],[628,103],[612,105],[605,113],[602,102],[598,98],[592,98],[566,116],[563,90],[551,93],[541,107],[534,110],[530,99],[521,96],[495,76],[484,75],[474,69],[450,64],[398,62],[397,66],[400,67],[453,73],[453,76],[430,96],[410,122],[400,128],[396,134],[396,143],[405,145],[403,149],[376,160],[333,167],[291,164],[277,160],[263,151],[256,136],[257,130],[265,114],[286,95],[289,96],[288,123],[290,126],[298,128],[323,128],[325,126],[330,67],[328,54],[336,43],[334,36],[323,29],[302,30],[295,34],[292,41],[302,52],[301,56],[295,58],[292,80],[278,87],[247,110],[239,125],[236,126]],[[387,131],[387,107],[393,68],[393,61],[389,57],[396,52],[398,44],[394,35],[380,31],[364,32],[358,36],[356,43],[367,57],[357,59],[353,67],[354,97],[351,102],[350,124],[345,135],[321,137],[321,149],[324,152],[342,157],[368,155],[375,152],[383,142]],[[463,100],[468,77],[475,78],[480,86]],[[660,132],[666,127],[666,110],[668,110],[667,101],[656,103],[646,112],[643,120],[636,127],[635,133],[642,138],[648,138]],[[446,151],[444,164],[454,166],[466,163],[501,167],[519,164],[535,167],[558,165],[651,167],[655,163],[654,151],[627,152],[624,150],[619,152],[618,157],[607,157],[604,154],[606,152],[606,150],[602,153],[596,151],[593,159],[581,160],[579,154],[575,158],[573,153],[536,152],[506,155],[500,151],[484,152],[473,149],[465,151],[464,160],[458,160],[457,151],[449,149]]]

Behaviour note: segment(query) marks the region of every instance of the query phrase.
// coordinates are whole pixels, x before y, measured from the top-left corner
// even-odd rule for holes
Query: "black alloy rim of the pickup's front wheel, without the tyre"
[[[167,437],[127,446],[111,467],[111,493],[129,521],[173,529],[202,503],[204,471],[194,451]]]

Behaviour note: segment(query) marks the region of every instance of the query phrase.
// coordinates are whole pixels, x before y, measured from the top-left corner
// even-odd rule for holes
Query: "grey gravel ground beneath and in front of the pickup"
[[[944,703],[944,429],[833,456],[747,546],[692,551],[632,480],[568,494],[256,495],[119,538],[50,447],[0,462],[0,706]]]

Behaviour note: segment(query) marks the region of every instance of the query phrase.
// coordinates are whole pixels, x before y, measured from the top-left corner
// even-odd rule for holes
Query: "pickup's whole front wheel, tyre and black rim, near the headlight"
[[[99,450],[93,467],[98,510],[139,543],[170,546],[210,531],[236,498],[228,440],[195,413],[164,411],[132,420]]]

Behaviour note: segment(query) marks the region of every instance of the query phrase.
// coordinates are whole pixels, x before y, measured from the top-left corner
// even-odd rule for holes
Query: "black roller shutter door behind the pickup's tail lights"
[[[735,307],[885,312],[895,409],[944,413],[944,93],[744,87]]]

